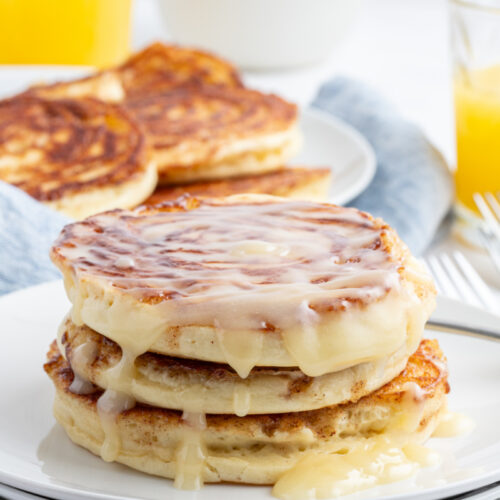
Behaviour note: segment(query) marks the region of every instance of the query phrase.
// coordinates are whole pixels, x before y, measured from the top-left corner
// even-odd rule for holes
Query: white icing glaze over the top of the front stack
[[[349,209],[306,202],[202,205],[135,216],[134,224],[126,215],[93,217],[104,229],[98,237],[87,225],[73,225],[78,244],[59,252],[78,275],[138,298],[170,293],[174,300],[163,301],[167,324],[183,324],[188,312],[188,321],[213,325],[217,318],[222,328],[237,318],[240,329],[260,329],[263,321],[286,329],[307,320],[303,302],[338,307],[346,299],[348,306],[399,283],[398,264],[380,245],[383,230]],[[125,256],[135,266],[120,273]]]

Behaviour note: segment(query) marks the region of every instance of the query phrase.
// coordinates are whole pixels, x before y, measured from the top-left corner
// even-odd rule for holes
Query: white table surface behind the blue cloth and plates
[[[132,45],[169,40],[158,9],[161,0],[135,0]],[[348,0],[346,0],[348,1]],[[249,86],[305,105],[335,75],[362,80],[387,96],[455,163],[451,65],[446,0],[363,0],[346,38],[320,65],[281,72],[244,72]],[[429,252],[460,249],[500,297],[500,273],[489,257],[443,231]]]

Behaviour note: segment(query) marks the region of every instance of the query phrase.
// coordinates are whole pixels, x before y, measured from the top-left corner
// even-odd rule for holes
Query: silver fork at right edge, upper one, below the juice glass
[[[474,203],[483,216],[479,235],[500,272],[500,203],[493,193],[474,193]]]

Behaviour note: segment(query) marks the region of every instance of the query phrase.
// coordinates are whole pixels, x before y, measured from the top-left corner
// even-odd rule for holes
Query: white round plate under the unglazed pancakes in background
[[[35,83],[71,80],[88,72],[84,67],[0,66],[0,98],[22,92]],[[344,205],[368,186],[375,174],[375,154],[359,132],[311,108],[301,110],[299,126],[304,144],[290,163],[331,168],[329,201]]]

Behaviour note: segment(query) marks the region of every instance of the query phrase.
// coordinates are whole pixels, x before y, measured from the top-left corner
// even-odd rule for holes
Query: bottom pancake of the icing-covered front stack
[[[57,420],[75,443],[99,455],[101,391],[70,391],[74,375],[55,342],[45,370],[56,387]],[[182,473],[195,471],[205,482],[271,484],[306,453],[345,455],[370,440],[394,443],[394,436],[401,445],[422,442],[437,425],[448,390],[445,358],[436,341],[424,340],[400,375],[356,403],[280,415],[207,415],[206,425],[200,421],[198,427],[180,412],[137,405],[117,417],[115,460],[149,474],[177,476],[181,486]]]

